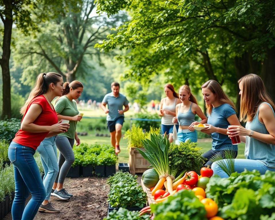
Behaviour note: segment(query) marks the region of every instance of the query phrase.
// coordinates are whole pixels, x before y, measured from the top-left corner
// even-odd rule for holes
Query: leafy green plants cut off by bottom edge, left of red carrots
[[[103,220],[150,220],[149,215],[139,216],[137,211],[128,211],[124,208],[119,208],[109,213]]]

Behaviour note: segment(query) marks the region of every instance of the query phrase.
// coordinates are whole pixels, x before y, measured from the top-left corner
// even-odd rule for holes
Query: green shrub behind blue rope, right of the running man
[[[136,113],[134,115],[135,118],[142,118],[142,119],[160,119],[160,117],[158,116],[158,114],[150,114],[148,112],[145,113]],[[146,131],[150,130],[150,126],[151,127],[160,127],[160,121],[134,121],[133,124],[135,124],[137,127],[142,127],[143,129],[145,129]]]

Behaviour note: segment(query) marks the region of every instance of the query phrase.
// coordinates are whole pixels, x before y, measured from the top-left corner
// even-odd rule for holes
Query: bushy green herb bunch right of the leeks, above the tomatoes
[[[171,167],[171,174],[176,176],[179,172],[194,170],[199,173],[203,166],[204,160],[201,156],[201,148],[197,147],[198,143],[180,142],[177,144],[170,144],[168,150],[169,166]]]

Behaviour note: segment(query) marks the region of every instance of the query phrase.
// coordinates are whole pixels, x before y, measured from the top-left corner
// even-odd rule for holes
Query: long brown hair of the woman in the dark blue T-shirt
[[[229,99],[229,97],[225,94],[225,92],[223,91],[223,89],[221,88],[221,85],[211,79],[211,80],[208,80],[207,82],[205,82],[202,86],[201,86],[201,89],[202,88],[207,88],[209,89],[213,94],[216,94],[216,99],[217,99],[217,102],[220,103],[220,104],[224,104],[224,103],[227,103],[229,105],[232,106],[233,109],[235,109],[236,111],[236,108],[235,108],[235,105],[233,103],[233,101],[231,101],[231,99]],[[207,110],[207,113],[209,115],[211,115],[211,112],[212,112],[212,109],[213,109],[213,105],[210,104],[210,105],[207,105],[205,103],[205,107],[206,107],[206,110]]]

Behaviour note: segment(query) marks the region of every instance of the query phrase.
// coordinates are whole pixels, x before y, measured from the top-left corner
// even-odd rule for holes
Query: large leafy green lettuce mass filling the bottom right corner
[[[273,219],[275,210],[275,175],[258,170],[232,173],[229,178],[212,176],[206,195],[219,206],[225,219]]]

